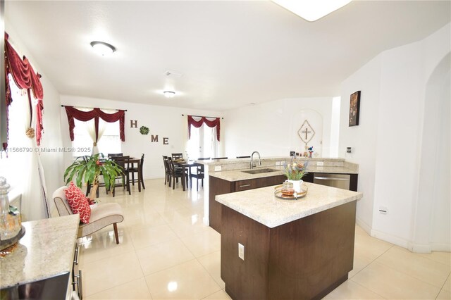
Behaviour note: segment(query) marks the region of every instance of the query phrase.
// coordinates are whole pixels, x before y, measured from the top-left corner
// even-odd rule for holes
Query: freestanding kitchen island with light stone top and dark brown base
[[[221,277],[233,299],[321,299],[347,280],[362,193],[304,184],[296,201],[276,198],[274,187],[216,196]]]

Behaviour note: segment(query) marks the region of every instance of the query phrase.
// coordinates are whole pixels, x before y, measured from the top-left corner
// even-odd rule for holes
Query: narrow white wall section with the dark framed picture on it
[[[342,83],[340,109],[340,138],[338,154],[359,163],[357,190],[364,196],[357,201],[357,221],[369,230],[373,223],[373,191],[377,144],[378,106],[381,84],[381,58],[373,58],[359,72]],[[361,91],[359,125],[349,127],[350,95]],[[352,155],[346,147],[352,147]]]

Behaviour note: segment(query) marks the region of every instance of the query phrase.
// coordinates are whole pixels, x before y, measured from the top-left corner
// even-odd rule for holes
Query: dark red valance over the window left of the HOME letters
[[[69,136],[70,140],[73,141],[73,129],[75,127],[75,122],[73,119],[77,119],[82,122],[87,122],[89,120],[94,119],[94,126],[96,129],[96,140],[99,135],[99,118],[104,120],[105,122],[114,123],[119,121],[119,136],[121,137],[121,141],[125,142],[125,111],[120,110],[116,111],[116,113],[105,113],[101,111],[100,108],[92,108],[92,111],[80,111],[73,106],[64,106],[66,108],[66,114],[68,115],[69,122]]]

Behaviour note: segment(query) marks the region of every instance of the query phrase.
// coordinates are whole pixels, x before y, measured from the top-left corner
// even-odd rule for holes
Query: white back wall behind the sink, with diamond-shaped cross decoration
[[[227,111],[226,156],[251,155],[255,150],[262,157],[289,156],[290,151],[304,152],[304,143],[297,137],[297,130],[304,118],[316,113],[322,116],[323,124],[316,125],[313,118],[309,123],[317,131],[317,137],[322,136],[323,144],[320,144],[321,139],[314,139],[309,146],[314,146],[314,151],[322,149],[323,156],[328,157],[332,97],[280,99]]]

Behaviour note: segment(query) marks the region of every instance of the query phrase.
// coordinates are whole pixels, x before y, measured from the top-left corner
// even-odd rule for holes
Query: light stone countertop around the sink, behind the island
[[[259,167],[260,168],[260,167]],[[259,168],[254,168],[254,170],[257,170]],[[268,172],[268,173],[260,173],[260,174],[247,174],[242,171],[249,170],[249,169],[242,169],[242,170],[226,170],[226,171],[218,171],[218,172],[211,172],[209,173],[210,176],[217,177],[222,180],[227,180],[230,182],[239,181],[239,180],[250,180],[250,179],[256,179],[256,178],[262,178],[262,177],[270,177],[270,176],[276,176],[276,175],[283,175],[283,166],[268,166],[268,167],[261,167],[261,168],[269,168],[273,169],[274,172]],[[350,168],[346,168],[344,166],[342,167],[321,167],[321,166],[310,166],[307,168],[307,172],[309,173],[336,173],[336,174],[358,174],[358,170],[352,170]]]

